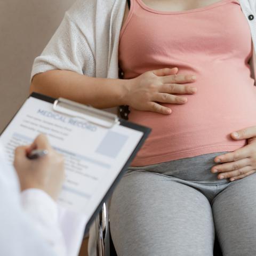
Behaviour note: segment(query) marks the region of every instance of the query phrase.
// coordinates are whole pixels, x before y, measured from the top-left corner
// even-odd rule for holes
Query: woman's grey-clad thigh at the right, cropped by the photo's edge
[[[256,255],[256,174],[222,190],[212,211],[223,256]]]

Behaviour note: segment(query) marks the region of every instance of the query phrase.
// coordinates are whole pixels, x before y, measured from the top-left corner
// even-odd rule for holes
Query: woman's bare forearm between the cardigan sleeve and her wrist
[[[30,93],[43,93],[53,98],[63,97],[95,108],[111,108],[125,105],[127,81],[94,78],[68,70],[50,70],[34,76]]]

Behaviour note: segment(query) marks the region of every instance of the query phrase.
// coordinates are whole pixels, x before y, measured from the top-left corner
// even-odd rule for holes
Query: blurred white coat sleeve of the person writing
[[[17,174],[0,143],[0,255],[73,256],[83,238],[85,218],[61,209],[39,189],[20,193]]]

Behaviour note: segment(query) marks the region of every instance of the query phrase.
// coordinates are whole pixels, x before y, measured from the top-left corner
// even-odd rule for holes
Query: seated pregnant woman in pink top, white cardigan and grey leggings
[[[256,254],[255,14],[252,0],[79,0],[36,58],[31,91],[129,105],[153,129],[111,199],[118,255],[213,255],[215,233],[223,255]]]

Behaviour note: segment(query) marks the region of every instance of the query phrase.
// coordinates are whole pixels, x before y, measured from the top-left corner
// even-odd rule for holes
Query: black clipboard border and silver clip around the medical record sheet
[[[132,159],[135,157],[138,150],[143,145],[143,142],[145,142],[146,138],[148,137],[151,129],[145,126],[131,123],[129,121],[125,121],[124,119],[120,119],[115,114],[111,114],[103,110],[95,109],[90,106],[85,106],[81,103],[77,103],[67,99],[63,99],[63,98],[54,99],[39,93],[32,93],[28,99],[30,98],[51,103],[52,111],[54,111],[54,113],[69,116],[71,118],[83,119],[86,123],[90,123],[94,126],[103,127],[104,129],[108,130],[108,129],[113,129],[114,126],[118,125],[134,131],[139,131],[142,134],[141,138],[136,143],[135,148],[132,150],[132,153],[130,154],[130,156],[127,158],[124,165],[122,166],[122,169],[118,171],[119,173],[117,174],[117,177],[113,182],[111,182],[110,187],[105,191],[105,195],[103,195],[102,199],[100,199],[100,201],[97,203],[98,205],[95,208],[94,212],[88,217],[86,221],[86,230],[88,230],[91,223],[97,216],[98,212],[101,210],[102,204],[106,202],[107,199],[111,196],[117,183],[122,178],[127,167],[129,167],[130,163],[132,162]],[[9,125],[12,123],[13,119],[18,114],[19,114],[19,111],[17,112],[16,115],[14,115],[10,123],[5,127],[4,131],[0,134],[1,136],[0,139],[2,138],[2,135],[5,133],[5,131],[7,132]]]

